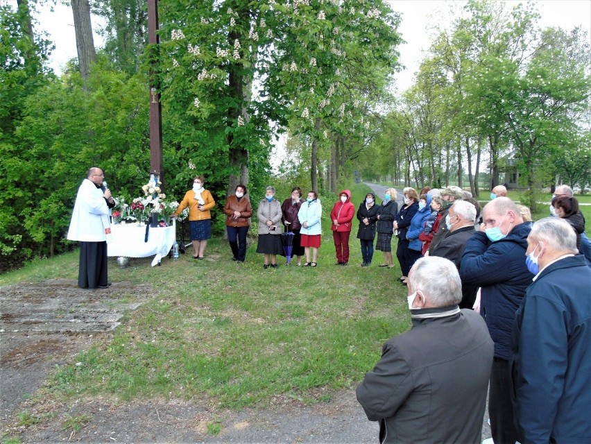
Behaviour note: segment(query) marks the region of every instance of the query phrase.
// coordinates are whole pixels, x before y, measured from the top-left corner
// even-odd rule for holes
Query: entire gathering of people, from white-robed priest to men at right
[[[78,285],[107,288],[108,214],[114,201],[93,167],[78,189],[68,239],[80,242]],[[173,216],[189,209],[194,259],[203,259],[216,205],[194,178]],[[366,194],[357,208],[363,262],[375,249],[408,287],[413,327],[384,345],[357,387],[380,442],[479,443],[488,393],[494,443],[591,442],[591,243],[572,189],[558,187],[551,216],[533,223],[526,207],[495,187],[482,209],[459,187]],[[252,206],[238,185],[223,209],[232,259],[243,264]],[[336,264],[349,263],[356,215],[351,193],[330,212]],[[257,253],[264,268],[292,238],[298,266],[316,267],[322,206],[293,187],[283,203],[266,187],[257,207]],[[375,240],[377,237],[377,241]],[[302,264],[303,262],[303,264]],[[288,261],[288,264],[290,262]]]

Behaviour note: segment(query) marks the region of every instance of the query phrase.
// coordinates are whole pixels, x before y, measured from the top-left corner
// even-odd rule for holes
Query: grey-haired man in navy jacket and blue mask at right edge
[[[591,270],[563,219],[534,223],[526,255],[510,356],[521,442],[591,443]]]

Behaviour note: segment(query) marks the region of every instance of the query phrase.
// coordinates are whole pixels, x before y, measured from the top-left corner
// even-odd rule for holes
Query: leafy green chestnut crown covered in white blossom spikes
[[[199,173],[229,176],[229,190],[268,166],[271,137],[288,124],[313,147],[325,133],[363,137],[363,114],[397,67],[400,18],[382,0],[171,0],[160,9],[167,142]]]

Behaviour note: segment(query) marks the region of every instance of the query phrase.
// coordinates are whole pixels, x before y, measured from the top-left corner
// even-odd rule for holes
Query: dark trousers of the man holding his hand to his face
[[[523,442],[513,422],[513,402],[511,402],[511,375],[506,359],[493,359],[488,387],[488,416],[490,432],[495,444],[514,444]]]

